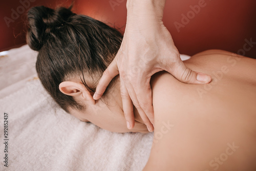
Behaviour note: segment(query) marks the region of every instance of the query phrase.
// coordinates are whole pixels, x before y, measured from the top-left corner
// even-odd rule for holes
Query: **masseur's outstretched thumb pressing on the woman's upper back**
[[[168,71],[169,72],[169,71]],[[170,73],[179,81],[190,84],[205,84],[211,81],[211,77],[207,74],[195,72],[187,68],[182,60],[180,60]]]

